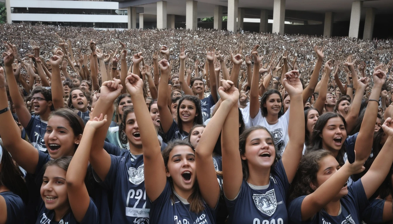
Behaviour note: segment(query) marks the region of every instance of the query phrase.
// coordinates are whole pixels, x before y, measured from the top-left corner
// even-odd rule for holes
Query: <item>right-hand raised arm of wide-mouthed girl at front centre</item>
[[[213,164],[213,149],[221,133],[225,119],[234,104],[239,100],[239,91],[233,87],[233,82],[222,80],[222,87],[219,88],[220,100],[219,109],[206,126],[195,149],[196,173],[198,185],[202,197],[206,203],[215,208],[220,196],[220,186],[217,182],[217,175]],[[234,117],[232,117],[235,119]],[[201,175],[198,175],[200,173]]]

